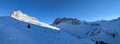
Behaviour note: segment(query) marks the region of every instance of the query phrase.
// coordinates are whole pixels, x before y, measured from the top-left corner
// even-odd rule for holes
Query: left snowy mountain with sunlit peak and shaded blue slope
[[[94,44],[57,27],[40,22],[21,11],[0,17],[0,44]]]

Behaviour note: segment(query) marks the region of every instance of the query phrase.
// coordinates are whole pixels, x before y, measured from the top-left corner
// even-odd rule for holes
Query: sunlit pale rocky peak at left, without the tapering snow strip
[[[13,17],[18,20],[24,20],[24,21],[31,21],[31,22],[39,22],[38,19],[35,17],[28,16],[27,14],[22,13],[20,10],[14,11],[10,17]]]

